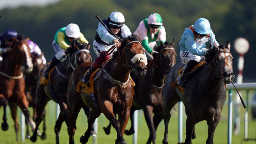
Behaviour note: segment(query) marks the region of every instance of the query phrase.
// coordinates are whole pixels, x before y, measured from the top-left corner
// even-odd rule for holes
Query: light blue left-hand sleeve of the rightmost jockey
[[[185,46],[191,54],[204,56],[205,51],[197,48],[196,42],[194,41],[194,34],[188,30],[185,31]]]

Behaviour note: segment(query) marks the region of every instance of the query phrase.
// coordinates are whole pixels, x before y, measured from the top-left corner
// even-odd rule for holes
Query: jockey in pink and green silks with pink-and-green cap
[[[139,23],[138,28],[134,31],[138,35],[138,40],[145,48],[150,58],[156,58],[158,52],[154,51],[155,46],[166,41],[166,32],[163,21],[158,13],[152,13],[150,16]]]

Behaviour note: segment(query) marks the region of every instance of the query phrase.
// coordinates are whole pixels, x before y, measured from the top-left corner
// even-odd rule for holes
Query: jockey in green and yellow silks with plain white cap
[[[48,73],[50,70],[57,65],[60,60],[65,56],[65,51],[73,52],[74,48],[71,47],[71,42],[81,41],[82,43],[89,43],[84,35],[80,32],[79,26],[76,24],[69,24],[66,27],[59,29],[54,36],[54,41],[52,43],[55,56],[51,60],[47,69],[43,72],[43,79],[48,79]]]

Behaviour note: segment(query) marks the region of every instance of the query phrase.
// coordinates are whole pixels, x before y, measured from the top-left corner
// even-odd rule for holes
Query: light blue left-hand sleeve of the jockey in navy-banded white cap
[[[100,22],[98,24],[98,29],[96,30],[96,32],[98,33],[98,35],[100,35],[100,38],[103,41],[106,41],[108,43],[112,43],[114,39],[113,35],[111,35],[108,30],[106,29],[106,27],[104,27]]]

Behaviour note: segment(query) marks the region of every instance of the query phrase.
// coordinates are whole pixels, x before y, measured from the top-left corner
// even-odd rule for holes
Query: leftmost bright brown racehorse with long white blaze
[[[32,130],[35,128],[35,123],[30,118],[30,113],[28,110],[29,103],[25,95],[25,80],[23,77],[23,72],[32,72],[33,64],[31,61],[30,48],[27,41],[14,39],[12,45],[12,51],[6,56],[6,59],[1,64],[0,71],[0,106],[4,107],[3,123],[1,125],[2,130],[8,130],[9,126],[7,124],[6,117],[6,106],[9,104],[12,118],[14,120],[16,131],[16,140],[18,141],[18,119],[17,119],[17,106],[20,107],[28,120]]]

